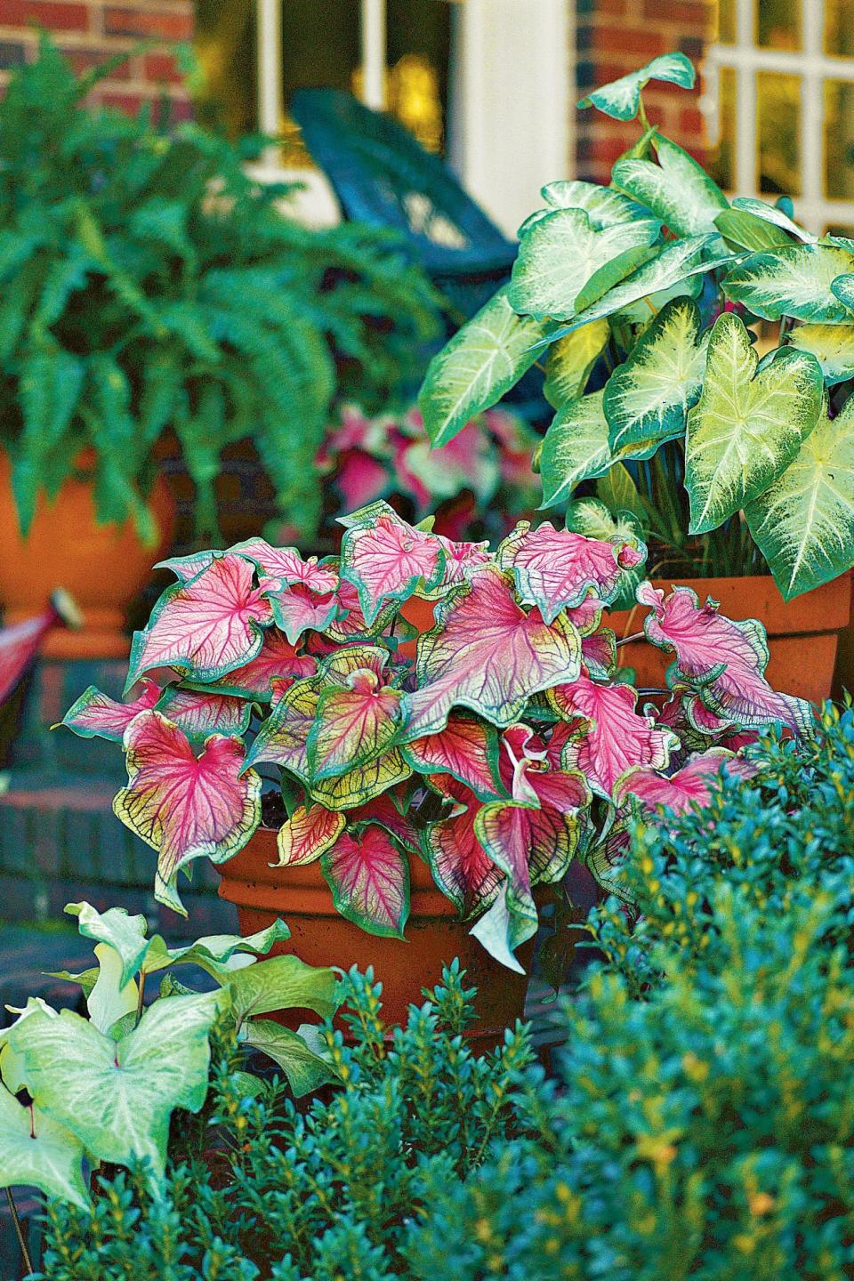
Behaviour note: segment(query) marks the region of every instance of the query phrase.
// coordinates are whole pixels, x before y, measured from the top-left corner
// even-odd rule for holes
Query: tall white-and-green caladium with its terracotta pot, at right
[[[785,200],[730,204],[649,127],[650,79],[694,69],[667,54],[580,102],[638,118],[638,142],[607,187],[543,188],[511,283],[428,371],[426,430],[446,445],[542,364],[543,506],[632,530],[653,576],[762,617],[772,678],[826,697],[854,565],[854,241]]]

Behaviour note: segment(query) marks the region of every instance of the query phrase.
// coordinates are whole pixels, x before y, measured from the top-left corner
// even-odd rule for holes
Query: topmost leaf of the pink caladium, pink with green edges
[[[359,593],[365,621],[371,624],[385,601],[406,601],[419,587],[437,587],[444,552],[435,534],[414,529],[384,502],[346,518],[341,543],[341,576]]]

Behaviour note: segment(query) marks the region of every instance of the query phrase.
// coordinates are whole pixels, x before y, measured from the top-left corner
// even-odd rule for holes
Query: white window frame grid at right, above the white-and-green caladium
[[[854,82],[854,59],[832,58],[822,49],[825,0],[802,0],[803,49],[759,49],[754,42],[754,3],[735,0],[736,32],[732,45],[711,45],[705,58],[705,97],[709,132],[718,127],[718,73],[731,68],[735,99],[735,196],[767,195],[757,191],[757,72],[781,72],[800,79],[799,152],[802,195],[793,197],[798,219],[816,234],[828,224],[854,225],[854,200],[825,196],[825,82]]]

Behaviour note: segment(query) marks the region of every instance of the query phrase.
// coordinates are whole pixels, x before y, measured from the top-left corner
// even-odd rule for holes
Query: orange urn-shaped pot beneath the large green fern
[[[169,488],[157,477],[150,507],[159,539],[151,547],[131,520],[101,525],[95,492],[87,477],[95,452],[83,450],[78,475],[69,477],[50,502],[42,492],[24,538],[12,492],[12,469],[0,453],[0,607],[6,624],[40,614],[58,587],[74,598],[83,626],[79,632],[55,628],[45,639],[49,658],[124,658],[131,643],[124,634],[128,602],[145,587],[151,566],[170,544],[175,506]]]

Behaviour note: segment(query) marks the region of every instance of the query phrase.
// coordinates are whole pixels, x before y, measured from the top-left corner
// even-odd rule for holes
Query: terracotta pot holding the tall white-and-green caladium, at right
[[[758,619],[768,633],[771,658],[766,676],[775,689],[810,702],[828,698],[834,684],[834,667],[840,632],[851,614],[850,576],[842,574],[794,601],[784,601],[771,575],[741,578],[675,578],[654,579],[654,587],[670,592],[671,587],[690,587],[700,602],[707,596],[718,601],[721,614],[735,621]],[[607,625],[617,639],[643,630],[647,610],[635,606],[611,614]],[[631,642],[618,649],[621,666],[634,667],[639,688],[663,687],[665,673],[673,655],[657,649],[645,640]]]

